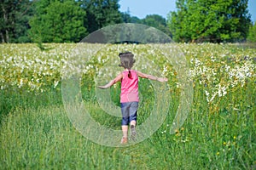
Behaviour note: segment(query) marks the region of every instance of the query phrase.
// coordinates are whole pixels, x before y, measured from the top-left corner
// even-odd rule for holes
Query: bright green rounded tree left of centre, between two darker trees
[[[87,35],[84,10],[74,0],[35,3],[36,14],[30,20],[33,42],[79,42]]]

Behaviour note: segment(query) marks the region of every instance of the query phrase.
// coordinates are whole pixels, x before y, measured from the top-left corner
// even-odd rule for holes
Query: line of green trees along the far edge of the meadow
[[[255,41],[247,0],[177,0],[167,20],[119,11],[119,0],[2,0],[1,42],[79,42],[119,23],[154,26],[177,42]]]

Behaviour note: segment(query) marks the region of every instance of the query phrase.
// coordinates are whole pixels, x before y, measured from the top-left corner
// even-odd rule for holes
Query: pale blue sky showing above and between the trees
[[[143,19],[147,14],[159,14],[167,18],[170,11],[176,10],[176,0],[119,0],[120,11],[130,11],[131,16]],[[256,0],[248,0],[251,20],[256,21]],[[255,22],[254,22],[255,23]]]

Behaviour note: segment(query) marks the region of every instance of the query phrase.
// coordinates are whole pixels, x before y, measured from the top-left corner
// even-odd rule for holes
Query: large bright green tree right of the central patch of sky
[[[168,26],[178,42],[245,40],[250,25],[248,0],[177,0]]]

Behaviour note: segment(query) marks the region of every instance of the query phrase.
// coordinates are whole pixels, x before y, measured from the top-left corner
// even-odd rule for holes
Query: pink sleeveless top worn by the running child
[[[137,72],[131,70],[131,78],[128,77],[128,74],[129,71],[123,71],[120,95],[121,103],[139,101]]]

